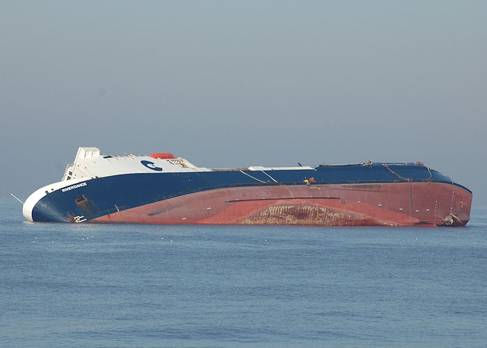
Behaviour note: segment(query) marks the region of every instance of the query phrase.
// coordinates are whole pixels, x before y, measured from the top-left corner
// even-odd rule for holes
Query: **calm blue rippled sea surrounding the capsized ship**
[[[486,347],[467,228],[27,223],[0,199],[1,347]]]

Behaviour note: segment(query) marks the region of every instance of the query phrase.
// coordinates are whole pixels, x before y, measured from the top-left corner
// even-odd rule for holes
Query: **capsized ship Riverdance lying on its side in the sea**
[[[79,148],[63,178],[33,192],[28,221],[302,226],[465,226],[472,191],[420,162],[242,168],[169,152]]]

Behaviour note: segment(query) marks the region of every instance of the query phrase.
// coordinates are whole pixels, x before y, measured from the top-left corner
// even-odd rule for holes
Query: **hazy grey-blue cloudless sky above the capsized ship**
[[[422,161],[487,204],[487,1],[0,0],[0,196],[79,146]]]

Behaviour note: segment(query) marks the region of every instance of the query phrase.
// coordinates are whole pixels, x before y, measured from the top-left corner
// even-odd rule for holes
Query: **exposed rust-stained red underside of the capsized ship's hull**
[[[464,226],[471,203],[469,191],[437,182],[233,187],[170,198],[92,221]]]

